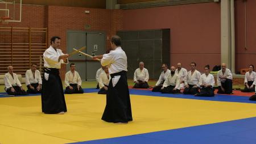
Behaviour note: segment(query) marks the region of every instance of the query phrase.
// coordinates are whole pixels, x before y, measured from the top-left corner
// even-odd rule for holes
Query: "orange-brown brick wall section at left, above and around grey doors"
[[[85,10],[89,10],[90,14],[85,14]],[[21,23],[10,22],[9,24],[0,24],[0,27],[48,27],[48,39],[52,36],[60,36],[60,49],[65,53],[67,30],[104,31],[106,37],[111,37],[115,35],[116,31],[122,30],[122,22],[122,10],[23,5]],[[85,24],[90,24],[90,29],[85,29]],[[106,49],[110,48],[109,39],[106,39]],[[22,42],[26,43],[26,40]],[[64,78],[65,69],[65,65],[62,65],[61,78]]]

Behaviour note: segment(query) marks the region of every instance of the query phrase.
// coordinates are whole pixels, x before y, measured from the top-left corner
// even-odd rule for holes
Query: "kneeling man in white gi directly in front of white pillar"
[[[218,94],[232,94],[232,73],[226,69],[226,63],[221,64],[217,73]]]

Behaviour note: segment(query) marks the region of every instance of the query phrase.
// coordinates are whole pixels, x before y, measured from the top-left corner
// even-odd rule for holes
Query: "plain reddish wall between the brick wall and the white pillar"
[[[199,3],[123,11],[123,29],[171,29],[171,65],[203,72],[220,63],[220,4]]]

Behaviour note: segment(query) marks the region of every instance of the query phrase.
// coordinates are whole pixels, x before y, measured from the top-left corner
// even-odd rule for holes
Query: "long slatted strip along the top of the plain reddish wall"
[[[193,3],[203,3],[203,2],[214,2],[214,0],[164,0],[164,1],[151,1],[151,2],[139,2],[139,3],[129,3],[120,5],[120,9],[142,9],[148,7],[161,7],[161,6],[173,6],[173,5],[185,5]]]

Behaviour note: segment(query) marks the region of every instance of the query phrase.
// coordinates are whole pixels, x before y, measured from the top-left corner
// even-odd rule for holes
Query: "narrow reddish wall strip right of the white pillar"
[[[246,9],[245,9],[246,4]],[[256,1],[235,1],[236,70],[256,66]],[[246,12],[245,12],[246,10]],[[246,18],[245,18],[246,13]],[[246,20],[246,25],[245,25]],[[245,31],[246,29],[246,31]],[[245,41],[246,36],[246,41]],[[246,43],[245,43],[246,42]],[[246,49],[245,49],[246,47]]]

